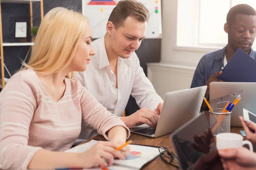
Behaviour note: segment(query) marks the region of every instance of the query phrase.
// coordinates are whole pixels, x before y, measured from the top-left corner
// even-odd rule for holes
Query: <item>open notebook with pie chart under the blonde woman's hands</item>
[[[73,147],[65,152],[84,152],[98,141],[92,140],[85,144]],[[144,164],[155,159],[160,153],[157,147],[141,146],[130,144],[131,153],[125,160],[115,159],[113,165],[108,167],[109,170],[139,170]],[[85,170],[85,169],[84,169]],[[102,170],[102,168],[94,167],[90,170]]]

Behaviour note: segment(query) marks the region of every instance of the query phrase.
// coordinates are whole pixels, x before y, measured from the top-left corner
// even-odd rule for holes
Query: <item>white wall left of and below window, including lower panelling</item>
[[[162,24],[161,61],[147,65],[148,78],[163,98],[169,91],[189,88],[201,57],[220,48],[177,47],[177,0],[163,0]]]

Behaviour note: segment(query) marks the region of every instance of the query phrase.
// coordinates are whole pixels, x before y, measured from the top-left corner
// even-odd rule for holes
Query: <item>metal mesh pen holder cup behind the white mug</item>
[[[221,113],[222,110],[209,111],[210,127],[212,135],[216,136],[219,133],[230,133],[230,113]]]

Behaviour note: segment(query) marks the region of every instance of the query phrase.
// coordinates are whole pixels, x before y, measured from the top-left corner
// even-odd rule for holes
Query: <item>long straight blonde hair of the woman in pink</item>
[[[47,75],[69,66],[74,58],[87,18],[81,13],[57,7],[50,10],[41,22],[28,64],[38,74]],[[72,78],[73,73],[66,77]]]

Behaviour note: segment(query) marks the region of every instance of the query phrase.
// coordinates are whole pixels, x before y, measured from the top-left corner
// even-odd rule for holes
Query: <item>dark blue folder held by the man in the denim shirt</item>
[[[225,82],[256,82],[256,61],[238,48],[217,79]]]

